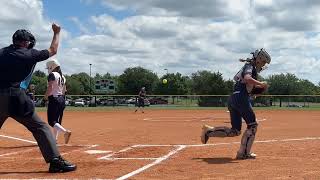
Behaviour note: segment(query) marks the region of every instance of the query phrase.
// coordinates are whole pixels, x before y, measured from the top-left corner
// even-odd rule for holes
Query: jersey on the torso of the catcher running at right
[[[236,84],[234,85],[234,90],[233,90],[234,92],[237,92],[237,91],[240,91],[240,92],[246,91],[248,93],[251,92],[253,86],[250,86],[244,82],[244,76],[246,74],[250,74],[253,79],[257,79],[256,68],[250,63],[245,64],[241,68],[241,70],[234,76],[234,80],[236,81]]]

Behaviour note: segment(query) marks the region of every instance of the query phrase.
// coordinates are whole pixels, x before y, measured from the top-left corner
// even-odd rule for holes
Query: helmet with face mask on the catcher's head
[[[267,69],[268,68],[267,64],[270,64],[271,62],[270,55],[264,49],[256,50],[253,54],[253,57],[254,57],[255,66],[258,73]]]

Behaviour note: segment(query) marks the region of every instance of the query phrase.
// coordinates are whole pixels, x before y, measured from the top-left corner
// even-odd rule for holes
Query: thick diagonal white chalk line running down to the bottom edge
[[[160,157],[160,158],[157,158],[157,159],[156,159],[155,161],[153,161],[152,163],[147,164],[147,165],[143,166],[142,168],[139,168],[139,169],[137,169],[137,170],[135,170],[135,171],[132,171],[131,173],[128,173],[128,174],[126,174],[126,175],[124,175],[124,176],[121,176],[121,177],[117,178],[116,180],[128,179],[128,178],[130,178],[130,177],[132,177],[132,176],[134,176],[134,175],[136,175],[136,174],[139,174],[139,173],[141,173],[142,171],[144,171],[144,170],[146,170],[146,169],[149,169],[150,167],[152,167],[152,166],[154,166],[154,165],[157,165],[157,164],[161,163],[162,161],[168,159],[170,156],[176,154],[177,152],[181,151],[181,150],[184,149],[185,147],[186,147],[186,146],[184,146],[184,145],[178,145],[178,147],[177,147],[176,149],[170,151],[168,154],[166,154],[166,155],[164,155],[164,156],[162,156],[162,157]]]

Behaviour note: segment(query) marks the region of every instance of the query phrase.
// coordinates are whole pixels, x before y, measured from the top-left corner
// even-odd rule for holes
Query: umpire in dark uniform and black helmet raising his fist
[[[74,171],[76,165],[60,156],[50,128],[35,112],[22,83],[32,75],[37,62],[57,53],[60,29],[59,25],[52,24],[54,34],[48,49],[33,49],[36,39],[24,29],[13,34],[13,44],[0,49],[0,128],[8,117],[24,125],[36,139],[45,161],[50,163],[51,173]]]

